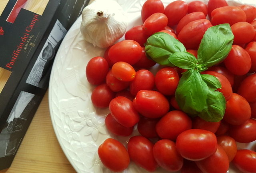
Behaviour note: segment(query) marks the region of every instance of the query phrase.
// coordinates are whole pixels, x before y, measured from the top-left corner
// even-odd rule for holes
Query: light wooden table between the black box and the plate
[[[48,91],[34,115],[11,167],[0,173],[76,173],[54,133]]]

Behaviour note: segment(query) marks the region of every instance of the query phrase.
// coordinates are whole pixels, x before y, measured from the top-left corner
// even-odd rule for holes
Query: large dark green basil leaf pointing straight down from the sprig
[[[175,98],[182,111],[189,115],[197,115],[206,105],[207,94],[208,87],[200,73],[191,69],[180,78]]]

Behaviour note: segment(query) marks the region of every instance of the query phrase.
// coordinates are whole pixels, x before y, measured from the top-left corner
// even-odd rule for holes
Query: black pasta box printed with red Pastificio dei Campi
[[[55,53],[89,0],[0,0],[0,170],[40,104]]]

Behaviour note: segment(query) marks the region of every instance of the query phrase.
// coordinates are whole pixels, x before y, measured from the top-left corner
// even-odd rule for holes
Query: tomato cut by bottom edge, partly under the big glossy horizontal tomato
[[[196,165],[204,173],[226,173],[229,168],[229,160],[224,149],[218,145],[214,154],[204,160],[196,161]]]

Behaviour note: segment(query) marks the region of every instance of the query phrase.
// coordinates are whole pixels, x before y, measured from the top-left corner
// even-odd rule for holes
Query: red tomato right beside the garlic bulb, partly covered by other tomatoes
[[[140,44],[140,46],[144,46],[146,43],[148,36],[142,30],[142,25],[134,26],[130,30],[128,30],[124,35],[125,40],[134,40]]]

